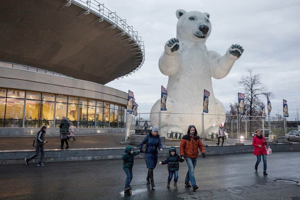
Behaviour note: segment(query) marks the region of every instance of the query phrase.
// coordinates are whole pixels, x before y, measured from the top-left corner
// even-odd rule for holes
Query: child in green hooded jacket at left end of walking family
[[[137,150],[136,152],[134,152],[132,146],[127,146],[125,153],[122,156],[123,169],[127,176],[126,182],[125,182],[125,189],[124,189],[125,191],[131,189],[130,182],[132,180],[132,167],[133,167],[134,156],[136,156],[139,153],[140,153],[140,150]]]

